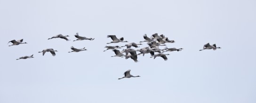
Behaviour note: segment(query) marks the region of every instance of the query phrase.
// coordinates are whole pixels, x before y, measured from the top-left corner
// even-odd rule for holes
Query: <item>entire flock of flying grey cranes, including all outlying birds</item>
[[[79,36],[78,33],[76,33],[74,35],[77,39],[76,40],[73,40],[73,41],[77,41],[77,40],[94,40],[94,38],[87,38],[87,37],[81,37]],[[51,37],[51,38],[48,38],[49,39],[52,39],[52,38],[62,38],[62,39],[65,39],[66,41],[70,41],[67,37],[69,37],[68,35],[67,36],[63,36],[62,34],[59,34],[59,35],[56,35],[54,37]],[[112,43],[120,43],[120,42],[128,42],[128,41],[124,41],[124,37],[121,37],[121,38],[117,38],[116,35],[108,35],[107,38],[110,37],[112,39],[112,42],[110,43],[106,43],[106,44],[112,44]],[[133,48],[139,48],[140,46],[138,45],[143,45],[143,44],[136,44],[136,43],[129,43],[129,44],[125,44],[123,46],[105,46],[105,48],[107,48],[106,50],[104,51],[107,51],[107,50],[112,50],[114,51],[115,55],[114,56],[111,56],[111,57],[121,57],[121,58],[124,58],[125,59],[133,59],[135,62],[138,62],[138,56],[139,55],[142,55],[144,56],[145,54],[147,53],[150,53],[150,58],[153,58],[155,59],[156,57],[161,57],[163,58],[165,61],[168,60],[167,58],[167,55],[170,55],[170,54],[164,54],[163,52],[168,52],[168,51],[182,51],[183,48],[179,48],[179,49],[176,49],[176,48],[168,48],[166,43],[175,43],[174,40],[169,40],[168,37],[165,37],[163,34],[162,35],[158,35],[157,33],[153,34],[151,37],[147,37],[147,35],[143,35],[143,38],[144,38],[144,41],[140,41],[139,43],[143,43],[143,42],[147,42],[147,45],[148,46],[145,46],[143,48],[140,48],[140,49],[133,49]],[[19,45],[19,44],[27,44],[26,42],[23,43],[23,39],[20,39],[20,40],[12,40],[12,41],[9,41],[8,43],[12,43],[12,45]],[[8,45],[8,46],[12,46],[12,45]],[[165,46],[163,49],[160,49],[160,46]],[[126,47],[125,49],[122,48],[122,47]],[[205,49],[213,49],[213,50],[216,50],[217,48],[221,48],[221,47],[216,47],[216,44],[213,44],[213,45],[210,45],[209,43],[205,44],[203,46],[203,49],[202,50],[205,50]],[[71,47],[72,51],[69,51],[69,52],[79,52],[79,51],[86,51],[87,49],[82,48],[82,49],[77,49],[77,48],[74,48],[73,46]],[[121,51],[118,50],[118,49],[122,49]],[[202,51],[202,50],[199,50],[199,51]],[[56,55],[56,50],[52,49],[52,48],[49,48],[49,49],[44,49],[42,51],[39,51],[39,53],[42,52],[43,53],[43,56],[46,52],[50,52],[52,54],[52,56],[55,56]],[[139,52],[139,53],[137,53]],[[155,52],[158,52],[158,54],[155,54]],[[31,56],[24,56],[24,57],[20,57],[19,59],[28,59],[28,58],[34,58],[33,55]],[[16,59],[18,60],[18,59]],[[122,78],[119,78],[119,79],[123,79],[123,78],[130,78],[130,77],[140,77],[140,76],[133,76],[130,74],[130,71],[131,70],[128,70],[124,73],[124,77]]]

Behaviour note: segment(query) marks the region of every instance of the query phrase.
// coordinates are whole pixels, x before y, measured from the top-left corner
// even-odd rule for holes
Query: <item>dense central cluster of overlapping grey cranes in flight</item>
[[[128,41],[124,41],[124,37],[121,38],[117,38],[115,35],[108,35],[107,37],[111,37],[112,42],[107,43],[107,44],[111,44],[111,43],[120,43],[120,42],[128,42]],[[115,56],[111,56],[111,57],[125,57],[125,59],[131,58],[133,59],[135,62],[138,62],[138,55],[145,55],[147,53],[151,54],[151,58],[153,57],[154,59],[156,57],[161,57],[164,60],[168,60],[166,55],[169,54],[164,54],[163,52],[167,52],[167,51],[181,51],[183,48],[180,49],[176,49],[176,48],[168,48],[166,46],[166,43],[175,43],[174,40],[169,40],[168,37],[165,37],[163,34],[162,35],[158,35],[157,33],[153,34],[151,37],[147,37],[147,35],[145,34],[143,36],[143,38],[145,39],[142,42],[147,42],[146,47],[140,48],[140,49],[133,49],[134,48],[139,48],[140,46],[138,45],[143,45],[143,44],[136,44],[134,42],[126,44],[124,46],[105,46],[105,48],[107,48],[107,50],[112,49],[112,51],[114,51],[114,53],[116,54]],[[160,49],[159,46],[166,46],[164,49]],[[126,49],[123,49],[122,51],[118,50],[119,48],[122,47],[126,47]],[[107,51],[105,50],[105,51]],[[139,52],[139,53],[137,53]],[[159,52],[158,54],[155,54],[155,52]]]

